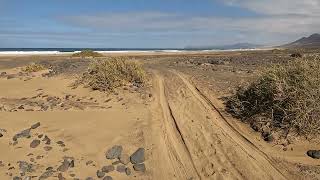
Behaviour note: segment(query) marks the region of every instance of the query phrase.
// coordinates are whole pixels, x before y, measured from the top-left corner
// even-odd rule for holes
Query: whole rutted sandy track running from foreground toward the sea
[[[165,145],[177,179],[285,179],[180,72],[156,73]]]

